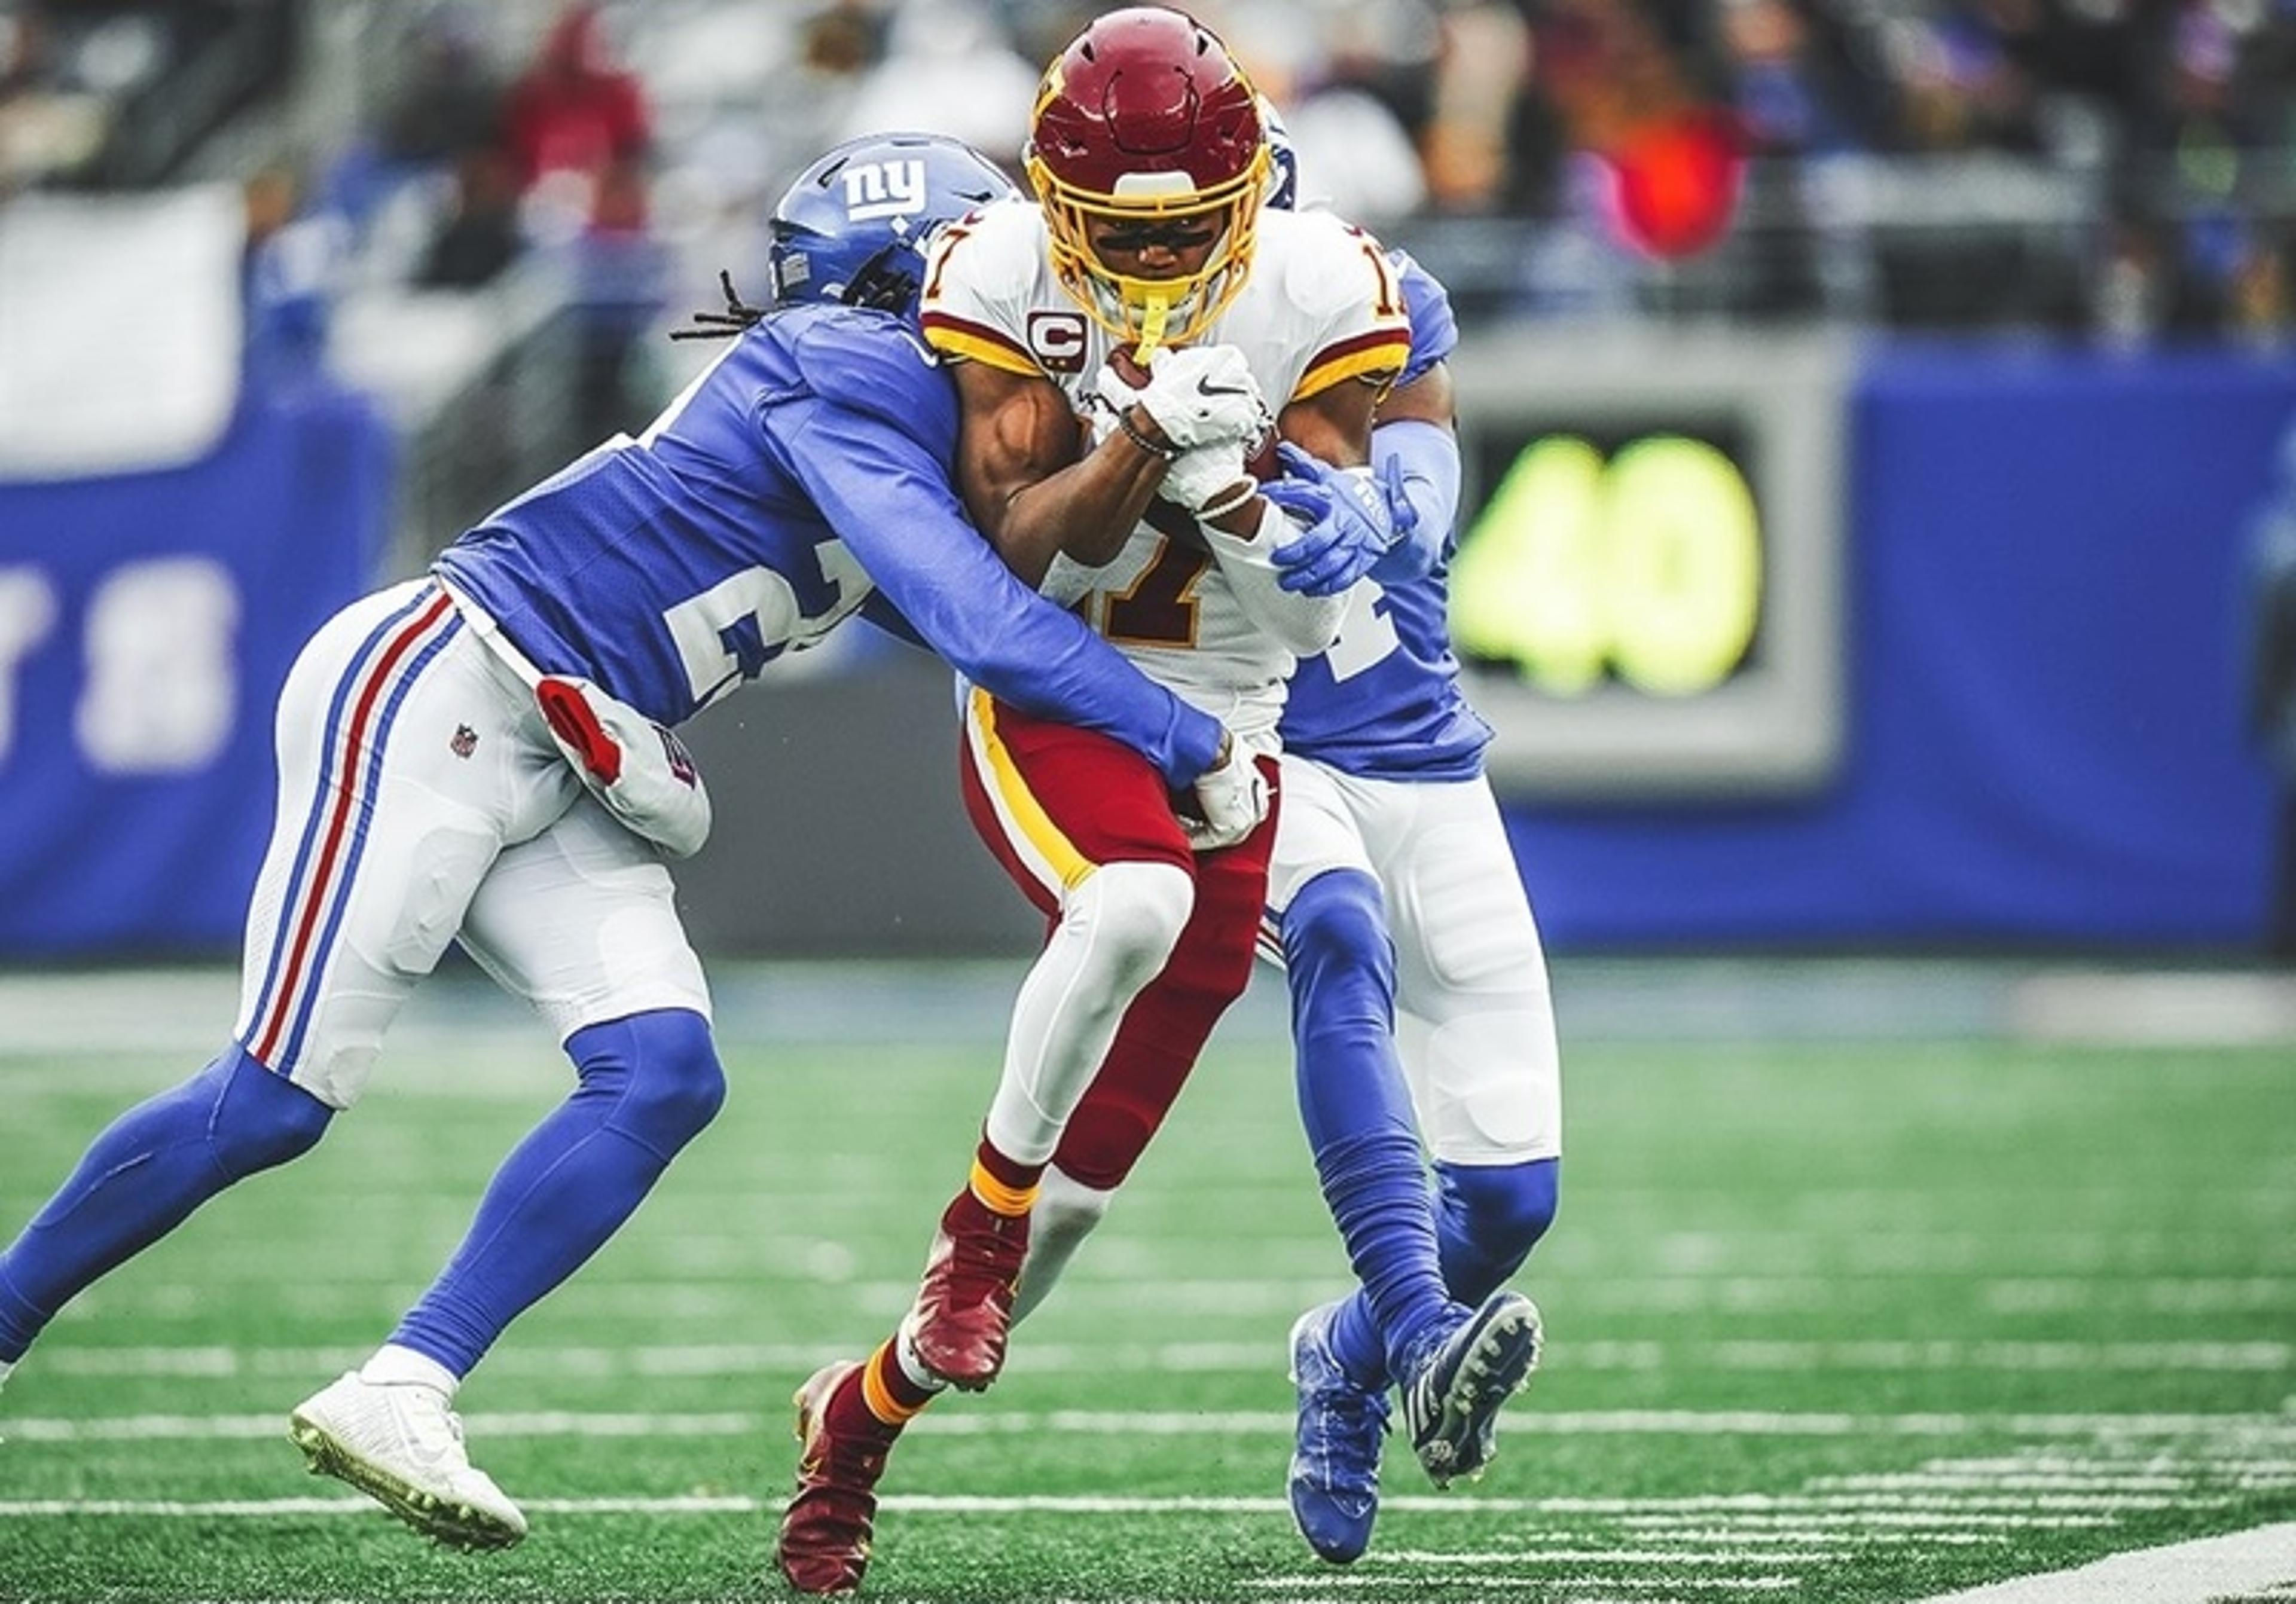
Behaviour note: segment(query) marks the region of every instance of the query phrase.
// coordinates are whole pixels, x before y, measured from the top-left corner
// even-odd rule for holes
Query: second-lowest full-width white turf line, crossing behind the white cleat
[[[287,1432],[278,1414],[135,1414],[57,1418],[0,1416],[0,1439],[41,1443],[94,1441],[234,1441]],[[464,1416],[478,1439],[503,1436],[744,1436],[781,1432],[781,1411],[719,1414],[579,1414],[579,1411],[473,1411]],[[1795,1414],[1754,1409],[1591,1409],[1527,1414],[1522,1423],[1543,1436],[2082,1436],[2158,1439],[2206,1436],[2259,1448],[2296,1443],[2296,1414]],[[909,1430],[948,1436],[1290,1436],[1293,1416],[1277,1411],[999,1411],[928,1414]],[[1896,1478],[1903,1487],[1922,1478]],[[2133,1489],[2142,1492],[2142,1489]]]

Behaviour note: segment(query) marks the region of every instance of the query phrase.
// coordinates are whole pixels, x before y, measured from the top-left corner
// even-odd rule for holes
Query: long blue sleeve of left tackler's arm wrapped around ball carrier
[[[916,441],[817,397],[776,406],[769,431],[877,590],[960,675],[1026,714],[1123,741],[1176,787],[1212,766],[1219,721],[1022,585]]]

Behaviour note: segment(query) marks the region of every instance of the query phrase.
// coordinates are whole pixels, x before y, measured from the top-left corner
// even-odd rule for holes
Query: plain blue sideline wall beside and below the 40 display
[[[1550,941],[2257,945],[2273,780],[2241,569],[2291,425],[2289,360],[1871,356],[1837,778],[1511,808]]]

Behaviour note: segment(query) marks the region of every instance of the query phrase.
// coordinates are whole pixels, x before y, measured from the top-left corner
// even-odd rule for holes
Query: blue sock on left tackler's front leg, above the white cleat
[[[567,1037],[581,1085],[494,1173],[471,1232],[390,1340],[468,1375],[581,1269],[726,1101],[709,1023],[684,1007]]]

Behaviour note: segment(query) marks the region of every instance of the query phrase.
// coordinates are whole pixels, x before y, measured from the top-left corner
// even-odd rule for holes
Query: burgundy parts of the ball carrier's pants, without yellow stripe
[[[1116,1044],[1054,1152],[1054,1163],[1070,1177],[1114,1189],[1164,1124],[1212,1026],[1251,980],[1277,810],[1270,808],[1244,842],[1199,856],[1173,819],[1162,776],[1130,746],[1091,730],[1029,718],[1003,702],[996,702],[996,734],[1029,792],[1086,861],[1171,863],[1189,870],[1196,881],[1196,906],[1171,961],[1132,1000]],[[1274,792],[1277,764],[1261,760],[1261,771]],[[1006,840],[969,743],[962,782],[964,810],[980,840],[1013,883],[1049,918],[1058,918],[1052,893]]]

